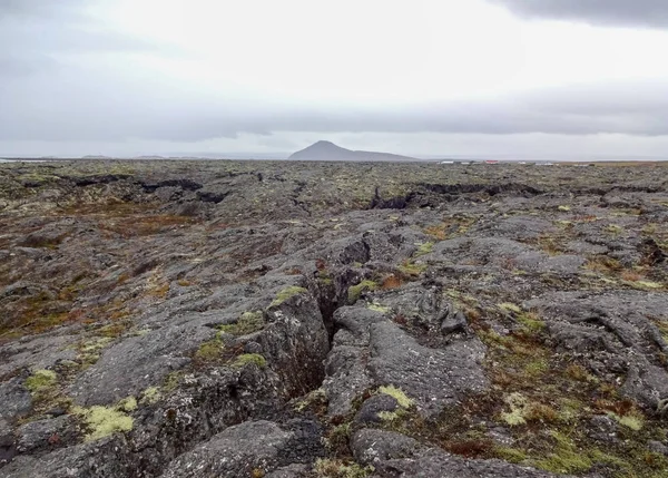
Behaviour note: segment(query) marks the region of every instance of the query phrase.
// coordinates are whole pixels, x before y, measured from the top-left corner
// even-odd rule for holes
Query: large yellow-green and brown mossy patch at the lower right
[[[452,291],[462,305],[462,295]],[[469,458],[500,458],[556,474],[582,475],[595,467],[605,477],[666,478],[668,459],[647,449],[666,439],[668,426],[622,399],[616,383],[597,379],[584,367],[550,349],[544,321],[519,305],[497,305],[510,333],[487,325],[485,313],[470,306],[469,323],[488,345],[489,392],[448,407],[436,419],[415,410],[389,413],[383,428]],[[592,438],[590,420],[612,417],[618,440]],[[499,445],[491,428],[504,427],[512,445]]]

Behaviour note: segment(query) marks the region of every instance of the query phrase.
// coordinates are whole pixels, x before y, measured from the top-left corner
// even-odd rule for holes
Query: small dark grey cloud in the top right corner
[[[590,25],[668,28],[666,0],[490,0],[529,18]]]

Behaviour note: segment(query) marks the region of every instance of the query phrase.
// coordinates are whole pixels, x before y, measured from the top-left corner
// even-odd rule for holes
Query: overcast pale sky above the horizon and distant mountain
[[[0,156],[668,159],[666,0],[0,0]]]

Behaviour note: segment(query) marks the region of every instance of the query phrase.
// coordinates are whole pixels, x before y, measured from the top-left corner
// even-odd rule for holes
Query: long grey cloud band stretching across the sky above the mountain
[[[129,74],[128,74],[129,75]],[[1,81],[0,81],[1,84]],[[620,133],[668,135],[668,85],[619,81],[534,90],[498,100],[414,104],[403,108],[293,104],[259,95],[214,96],[138,75],[72,68],[0,88],[0,139],[196,142],[243,133]]]

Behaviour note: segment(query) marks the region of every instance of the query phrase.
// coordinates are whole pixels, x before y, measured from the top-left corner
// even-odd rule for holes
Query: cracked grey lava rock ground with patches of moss
[[[668,167],[0,165],[2,477],[668,477]]]

